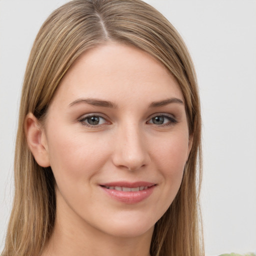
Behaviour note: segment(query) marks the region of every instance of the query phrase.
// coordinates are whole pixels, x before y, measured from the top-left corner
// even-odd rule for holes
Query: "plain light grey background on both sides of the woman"
[[[0,250],[11,207],[23,73],[34,37],[67,0],[0,0]],[[147,0],[184,38],[203,117],[206,255],[256,252],[256,1]]]

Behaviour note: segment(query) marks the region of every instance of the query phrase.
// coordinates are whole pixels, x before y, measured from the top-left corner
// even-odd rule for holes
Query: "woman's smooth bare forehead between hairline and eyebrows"
[[[107,97],[111,101],[161,100],[182,92],[169,71],[148,53],[110,42],[89,49],[69,68],[55,97]],[[158,98],[157,98],[158,97]]]

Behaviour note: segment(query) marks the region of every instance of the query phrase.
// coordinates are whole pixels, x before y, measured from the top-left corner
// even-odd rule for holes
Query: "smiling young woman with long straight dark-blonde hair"
[[[160,13],[59,7],[25,72],[3,255],[203,255],[200,125],[191,59]]]

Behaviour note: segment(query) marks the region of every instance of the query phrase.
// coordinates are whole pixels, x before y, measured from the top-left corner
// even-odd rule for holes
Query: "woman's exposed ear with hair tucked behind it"
[[[36,162],[42,167],[50,166],[45,131],[32,113],[26,115],[25,134],[28,147]]]

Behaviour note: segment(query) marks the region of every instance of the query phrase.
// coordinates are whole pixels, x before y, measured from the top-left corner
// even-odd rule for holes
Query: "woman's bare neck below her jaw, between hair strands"
[[[79,217],[70,221],[68,213],[59,214],[58,207],[56,213],[53,233],[42,256],[150,256],[153,227],[135,237],[120,237],[95,229]]]

